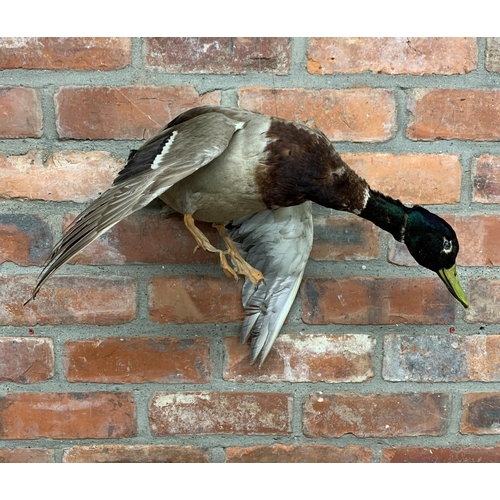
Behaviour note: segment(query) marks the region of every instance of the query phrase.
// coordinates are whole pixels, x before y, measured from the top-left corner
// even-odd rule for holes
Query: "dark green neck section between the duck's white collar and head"
[[[359,216],[391,233],[397,241],[404,242],[406,221],[410,211],[411,208],[405,207],[399,200],[370,190],[366,205]]]

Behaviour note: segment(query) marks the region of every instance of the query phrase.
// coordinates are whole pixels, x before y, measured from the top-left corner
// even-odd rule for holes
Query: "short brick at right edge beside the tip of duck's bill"
[[[500,280],[477,278],[469,280],[470,307],[467,323],[500,323]]]

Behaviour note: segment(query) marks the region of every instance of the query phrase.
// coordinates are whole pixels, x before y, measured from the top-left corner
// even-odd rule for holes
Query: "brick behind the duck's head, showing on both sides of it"
[[[498,215],[444,215],[455,230],[460,243],[457,264],[460,266],[498,266],[500,249],[496,235],[500,232]],[[388,260],[400,266],[417,266],[406,245],[389,239]]]

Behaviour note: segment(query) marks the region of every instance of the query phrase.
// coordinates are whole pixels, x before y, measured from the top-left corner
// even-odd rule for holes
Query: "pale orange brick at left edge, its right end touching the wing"
[[[59,151],[46,161],[41,151],[0,153],[0,198],[89,201],[109,188],[122,167],[122,160],[103,151]]]

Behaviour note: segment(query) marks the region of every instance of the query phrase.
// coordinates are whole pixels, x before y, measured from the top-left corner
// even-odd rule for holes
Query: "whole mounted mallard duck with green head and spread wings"
[[[252,363],[269,354],[299,289],[313,240],[311,202],[391,233],[468,307],[457,237],[443,219],[370,189],[319,130],[221,106],[182,113],[130,153],[54,247],[29,300],[71,257],[157,197],[184,215],[197,246],[217,253],[226,275],[245,277],[241,340],[252,337]],[[226,249],[212,246],[195,221],[212,222]]]

